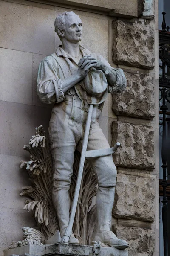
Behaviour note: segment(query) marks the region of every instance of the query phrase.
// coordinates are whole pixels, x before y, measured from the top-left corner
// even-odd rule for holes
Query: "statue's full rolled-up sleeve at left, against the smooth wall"
[[[57,70],[48,60],[41,61],[39,66],[37,94],[46,104],[59,103],[65,98],[62,81],[58,78]]]

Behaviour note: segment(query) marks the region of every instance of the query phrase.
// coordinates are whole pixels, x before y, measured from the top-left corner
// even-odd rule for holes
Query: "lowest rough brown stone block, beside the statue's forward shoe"
[[[116,235],[128,241],[130,256],[153,256],[155,233],[153,230],[140,227],[113,227]]]

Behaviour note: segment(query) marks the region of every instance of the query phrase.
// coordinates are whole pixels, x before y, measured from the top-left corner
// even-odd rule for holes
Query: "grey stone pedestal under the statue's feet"
[[[97,253],[97,251],[96,251]],[[77,244],[53,244],[53,245],[26,245],[5,251],[5,256],[19,255],[55,255],[55,256],[94,256],[93,246],[77,245]],[[127,250],[118,250],[114,247],[102,247],[99,256],[128,256]]]

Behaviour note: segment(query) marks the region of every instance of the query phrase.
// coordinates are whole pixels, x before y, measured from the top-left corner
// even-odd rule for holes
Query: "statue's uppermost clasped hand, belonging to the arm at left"
[[[91,55],[85,56],[79,60],[77,73],[84,79],[91,67],[95,67],[97,60]]]

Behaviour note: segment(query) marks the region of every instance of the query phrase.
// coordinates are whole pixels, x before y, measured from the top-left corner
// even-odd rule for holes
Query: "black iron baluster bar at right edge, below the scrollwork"
[[[162,207],[162,223],[163,223],[163,239],[164,239],[164,256],[167,256],[167,195],[166,195],[166,189],[167,189],[167,143],[166,143],[166,112],[168,110],[168,107],[166,105],[166,88],[162,88],[163,92],[163,98],[162,98],[162,105],[161,105],[161,111],[163,115],[163,131],[162,131],[162,149],[161,149],[161,157],[162,157],[162,169],[163,169],[163,207]]]

